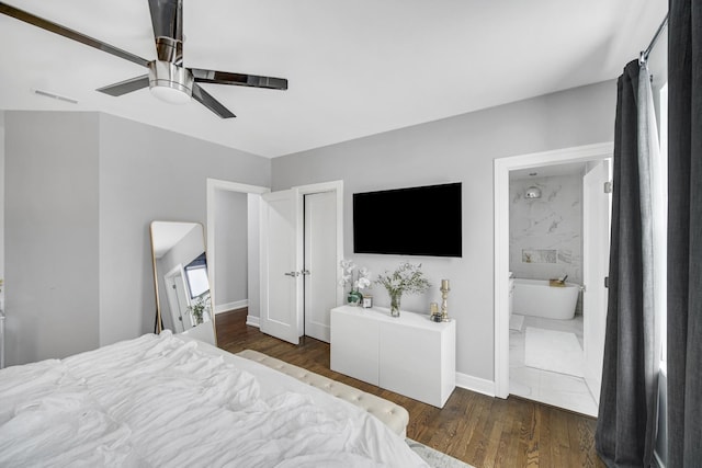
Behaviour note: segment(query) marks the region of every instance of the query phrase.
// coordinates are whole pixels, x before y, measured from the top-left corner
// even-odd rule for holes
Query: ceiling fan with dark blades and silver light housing
[[[163,101],[185,103],[192,96],[219,117],[230,118],[236,117],[236,115],[197,83],[233,84],[273,90],[287,89],[287,80],[284,78],[183,67],[182,0],[148,0],[148,2],[154,26],[154,38],[156,39],[156,60],[147,60],[4,2],[0,2],[0,13],[148,68],[147,75],[98,89],[98,91],[113,96],[120,96],[148,87],[151,93]]]

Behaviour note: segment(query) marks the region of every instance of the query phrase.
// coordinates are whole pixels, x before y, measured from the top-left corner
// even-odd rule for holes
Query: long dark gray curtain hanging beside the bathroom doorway
[[[659,356],[650,283],[650,173],[645,134],[650,125],[642,125],[645,110],[639,102],[639,64],[633,60],[618,81],[609,303],[595,436],[597,452],[609,467],[648,467],[656,434]]]

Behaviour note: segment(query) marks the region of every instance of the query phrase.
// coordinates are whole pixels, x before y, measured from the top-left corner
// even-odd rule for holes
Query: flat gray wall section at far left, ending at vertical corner
[[[98,114],[5,113],[7,364],[98,347]]]

